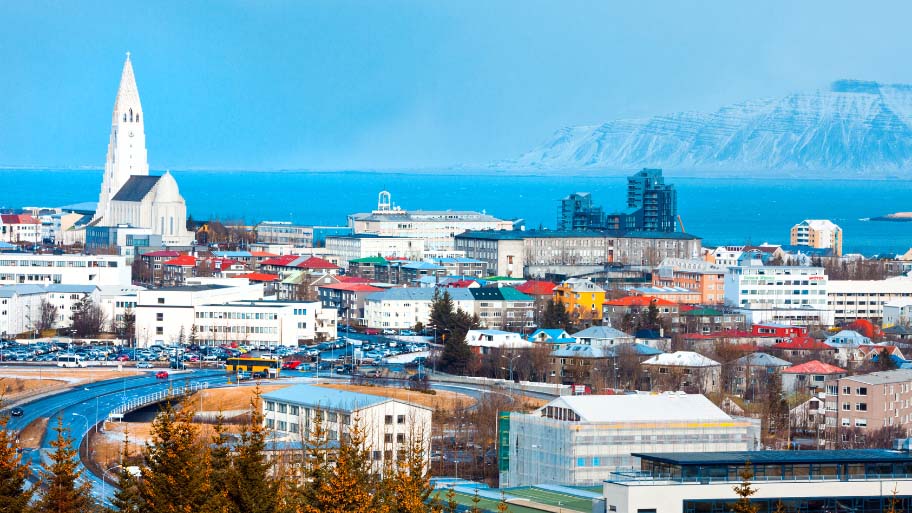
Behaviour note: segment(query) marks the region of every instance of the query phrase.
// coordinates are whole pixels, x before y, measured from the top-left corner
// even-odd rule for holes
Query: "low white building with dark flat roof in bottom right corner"
[[[751,505],[760,511],[882,513],[896,490],[898,511],[912,506],[912,454],[908,451],[762,451],[636,453],[640,464],[604,483],[612,513],[730,511],[748,464],[755,478]]]

